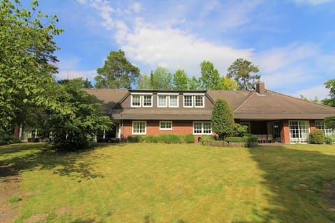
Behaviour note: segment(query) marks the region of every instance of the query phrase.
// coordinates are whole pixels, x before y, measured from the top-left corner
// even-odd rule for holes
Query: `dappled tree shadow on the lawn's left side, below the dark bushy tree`
[[[54,169],[54,174],[71,176],[81,180],[103,178],[103,175],[93,168],[93,164],[103,158],[103,155],[92,153],[103,146],[107,146],[107,144],[80,151],[54,151],[46,149],[43,144],[12,144],[2,147],[0,155],[5,158],[0,160],[0,178],[15,176],[18,171],[29,171],[35,168]],[[111,146],[123,145],[112,144]],[[20,155],[20,151],[29,151],[30,153]]]

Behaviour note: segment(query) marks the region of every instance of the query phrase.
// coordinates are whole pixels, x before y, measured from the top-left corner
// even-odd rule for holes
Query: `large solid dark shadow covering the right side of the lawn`
[[[320,147],[322,148],[322,147]],[[255,222],[335,222],[335,155],[285,146],[251,148],[264,174],[266,210],[254,210]],[[330,193],[334,191],[330,191]]]

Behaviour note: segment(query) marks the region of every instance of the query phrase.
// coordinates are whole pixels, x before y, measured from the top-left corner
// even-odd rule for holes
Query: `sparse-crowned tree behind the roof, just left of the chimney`
[[[250,61],[239,58],[230,65],[226,77],[234,79],[239,89],[255,90],[255,84],[260,82],[260,75],[251,75],[251,73],[258,71],[260,71],[258,67]]]

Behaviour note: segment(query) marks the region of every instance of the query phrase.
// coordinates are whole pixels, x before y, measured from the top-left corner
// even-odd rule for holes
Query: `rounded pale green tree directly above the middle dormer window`
[[[158,67],[150,74],[150,89],[170,90],[172,89],[172,74],[166,68]]]

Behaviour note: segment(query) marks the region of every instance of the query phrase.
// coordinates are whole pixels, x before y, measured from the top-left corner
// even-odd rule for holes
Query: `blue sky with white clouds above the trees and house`
[[[221,75],[237,58],[260,68],[266,88],[326,98],[335,78],[335,1],[47,0],[59,17],[59,78],[90,80],[111,50],[123,49],[141,73],[157,66],[200,76],[211,61]]]

